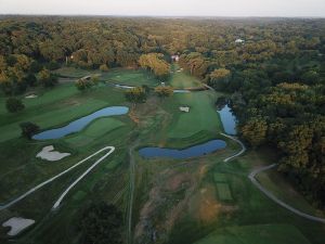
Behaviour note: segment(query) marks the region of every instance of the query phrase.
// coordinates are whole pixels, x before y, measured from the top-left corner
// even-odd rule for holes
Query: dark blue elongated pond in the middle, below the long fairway
[[[224,141],[212,140],[184,150],[144,147],[139,150],[139,154],[145,158],[168,157],[173,159],[185,159],[185,158],[198,157],[206,154],[210,154],[218,150],[225,149],[225,146],[226,143]]]

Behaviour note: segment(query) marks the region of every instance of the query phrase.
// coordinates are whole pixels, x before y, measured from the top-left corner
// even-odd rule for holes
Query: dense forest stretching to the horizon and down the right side
[[[325,21],[24,17],[0,21],[4,94],[54,86],[62,65],[146,68],[168,80],[171,55],[223,92],[251,147],[325,206]]]

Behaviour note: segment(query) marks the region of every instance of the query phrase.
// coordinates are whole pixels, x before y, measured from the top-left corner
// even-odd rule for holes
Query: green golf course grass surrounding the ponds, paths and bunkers
[[[69,75],[69,69],[64,72]],[[105,77],[117,79],[119,73],[108,72]],[[77,76],[77,72],[70,76]],[[136,75],[133,70],[120,78],[126,81],[128,76],[133,84],[127,85],[146,82],[140,73]],[[199,81],[195,79],[195,82]],[[214,107],[219,94],[199,91],[178,93],[165,100],[151,94],[145,104],[138,104],[127,115],[96,119],[80,132],[62,139],[27,141],[20,137],[18,124],[22,121],[37,123],[42,129],[49,129],[106,106],[131,107],[121,89],[108,86],[79,92],[73,84],[66,82],[53,90],[35,92],[39,98],[24,100],[25,111],[11,115],[3,107],[0,110],[0,203],[14,198],[105,145],[113,145],[116,151],[72,189],[56,211],[50,209],[60,194],[102,154],[0,211],[0,222],[13,216],[36,220],[34,227],[15,239],[16,243],[79,243],[78,216],[89,202],[101,198],[122,210],[125,236],[128,234],[128,209],[131,209],[131,240],[134,244],[153,243],[154,233],[159,243],[165,244],[323,244],[324,226],[280,207],[247,178],[256,167],[273,163],[272,152],[249,151],[223,162],[240,151],[240,146],[220,134],[223,129]],[[4,104],[3,97],[0,102]],[[181,112],[181,105],[190,106],[190,113]],[[183,149],[211,139],[224,140],[226,149],[184,160],[151,160],[136,153],[146,145]],[[54,145],[55,150],[72,155],[58,162],[36,158],[46,145]],[[130,147],[134,147],[131,154],[134,175],[129,168]],[[135,178],[133,185],[130,184],[132,176]],[[283,193],[284,184],[277,177],[277,172],[272,171],[268,176],[261,175],[259,180],[280,196],[286,195],[285,201],[297,202],[301,208],[313,210],[300,195]],[[134,188],[134,197],[130,206],[131,187]],[[0,227],[1,243],[2,240],[10,243],[5,232]]]

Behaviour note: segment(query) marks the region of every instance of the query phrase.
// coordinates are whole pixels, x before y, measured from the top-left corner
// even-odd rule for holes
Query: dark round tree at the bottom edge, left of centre
[[[105,202],[88,206],[79,221],[83,244],[121,244],[122,215]]]

